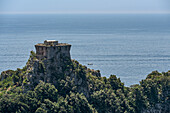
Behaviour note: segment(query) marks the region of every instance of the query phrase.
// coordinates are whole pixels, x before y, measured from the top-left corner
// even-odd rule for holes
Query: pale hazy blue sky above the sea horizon
[[[0,0],[0,13],[170,13],[170,0]]]

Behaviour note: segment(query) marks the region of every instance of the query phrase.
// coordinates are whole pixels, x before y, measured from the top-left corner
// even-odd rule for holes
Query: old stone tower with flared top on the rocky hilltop
[[[70,44],[58,43],[56,40],[45,40],[44,43],[36,44],[35,48],[36,57],[39,60],[51,59],[56,57],[57,54],[70,58]]]

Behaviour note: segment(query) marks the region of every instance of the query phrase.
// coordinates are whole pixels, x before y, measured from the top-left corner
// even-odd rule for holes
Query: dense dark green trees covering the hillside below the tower
[[[68,65],[68,64],[67,64]],[[1,113],[139,113],[156,104],[170,104],[170,72],[152,72],[140,85],[125,87],[120,78],[94,76],[94,72],[73,60],[65,70],[72,69],[80,84],[64,74],[55,84],[41,81],[32,89],[28,84],[26,67],[8,70],[9,76],[0,76]],[[81,88],[87,88],[85,94]],[[165,112],[169,112],[166,109]]]

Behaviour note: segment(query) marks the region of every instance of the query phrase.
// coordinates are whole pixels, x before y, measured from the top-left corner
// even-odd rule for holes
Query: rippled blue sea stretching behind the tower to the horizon
[[[46,39],[72,44],[72,59],[125,85],[170,70],[170,15],[0,15],[0,72],[22,68]]]

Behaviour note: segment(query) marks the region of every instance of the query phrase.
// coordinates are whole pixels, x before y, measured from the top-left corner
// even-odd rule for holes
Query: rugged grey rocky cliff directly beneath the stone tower
[[[70,85],[73,91],[83,93],[89,97],[89,81],[86,74],[91,73],[93,76],[100,77],[100,71],[87,69],[86,66],[80,65],[77,61],[71,60],[70,57],[63,56],[60,52],[53,58],[38,60],[32,52],[30,59],[26,64],[26,74],[28,84],[27,88],[38,84],[40,81],[54,84],[59,90],[64,90],[65,85]],[[62,86],[64,85],[64,86]],[[65,90],[66,93],[67,89]]]

